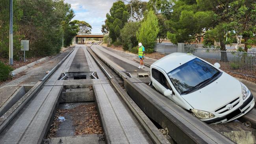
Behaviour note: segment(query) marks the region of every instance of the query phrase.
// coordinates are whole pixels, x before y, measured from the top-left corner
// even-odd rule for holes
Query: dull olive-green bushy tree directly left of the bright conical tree
[[[122,46],[124,50],[132,50],[137,46],[136,31],[139,29],[139,22],[127,22],[121,30]]]

